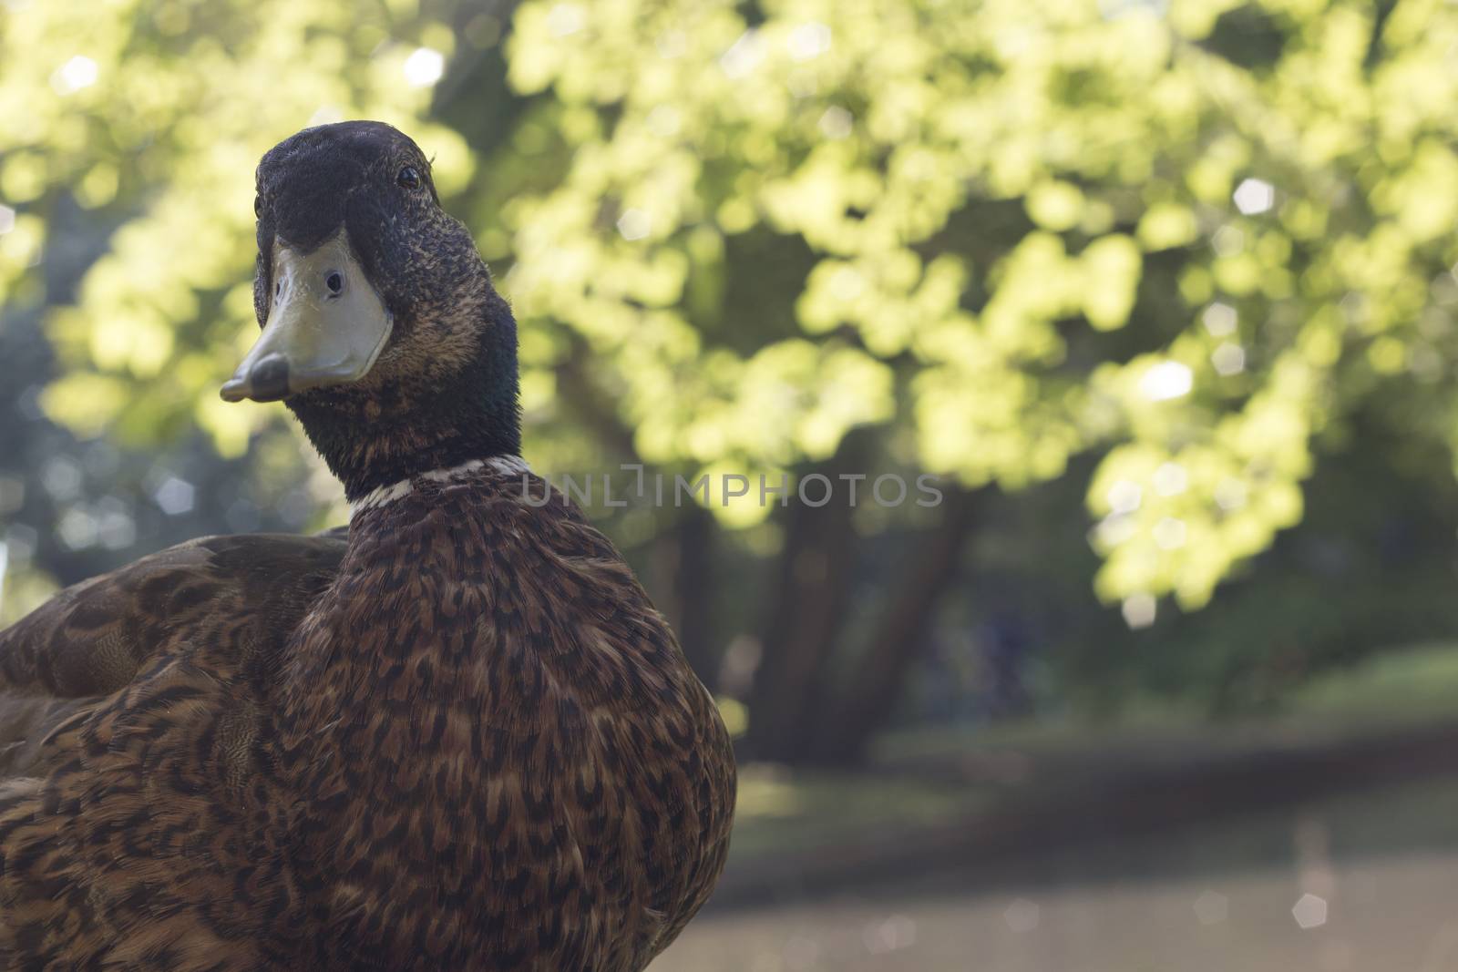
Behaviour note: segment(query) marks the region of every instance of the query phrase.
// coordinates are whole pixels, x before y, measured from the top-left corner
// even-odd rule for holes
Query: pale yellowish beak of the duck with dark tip
[[[308,254],[276,245],[273,261],[268,322],[223,385],[223,398],[274,402],[364,377],[392,322],[344,230]]]

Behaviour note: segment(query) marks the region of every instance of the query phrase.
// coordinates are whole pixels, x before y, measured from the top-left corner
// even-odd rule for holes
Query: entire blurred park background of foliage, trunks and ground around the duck
[[[0,621],[341,523],[252,171],[397,124],[742,761],[655,972],[1458,969],[1458,7],[0,0]],[[672,481],[672,479],[669,479]]]

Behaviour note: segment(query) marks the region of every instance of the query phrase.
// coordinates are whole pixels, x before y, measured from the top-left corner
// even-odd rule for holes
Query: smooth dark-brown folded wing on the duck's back
[[[67,727],[163,648],[187,646],[220,676],[267,657],[343,555],[338,536],[190,541],[67,587],[0,631],[0,780],[64,761]]]

